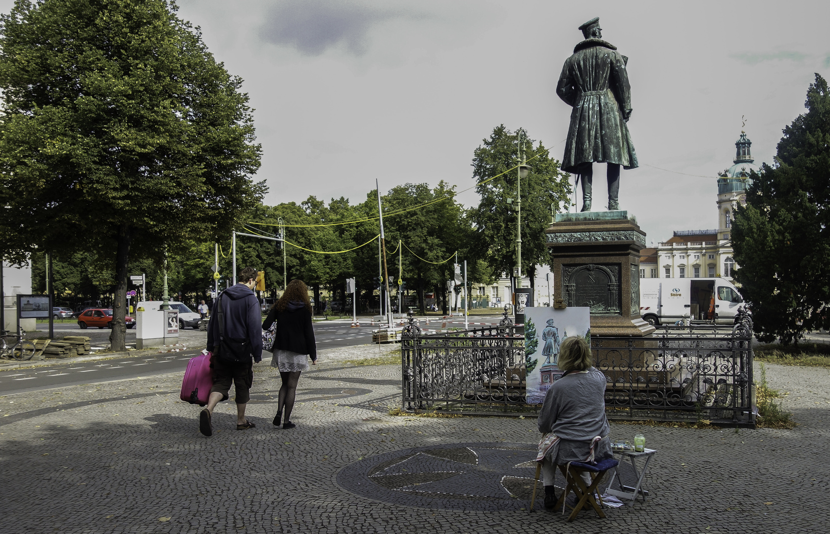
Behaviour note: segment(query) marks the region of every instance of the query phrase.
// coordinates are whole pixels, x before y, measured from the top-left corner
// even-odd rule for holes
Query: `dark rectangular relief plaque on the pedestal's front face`
[[[592,315],[620,315],[620,264],[563,265],[569,306],[591,308]]]

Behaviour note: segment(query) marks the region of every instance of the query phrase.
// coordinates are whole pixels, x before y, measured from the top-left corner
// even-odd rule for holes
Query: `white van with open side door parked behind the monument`
[[[722,278],[641,278],[640,316],[659,326],[682,318],[732,324],[740,304],[738,289]]]

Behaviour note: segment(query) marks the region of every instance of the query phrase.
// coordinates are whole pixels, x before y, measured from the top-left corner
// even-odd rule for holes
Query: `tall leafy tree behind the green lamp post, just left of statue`
[[[530,277],[531,288],[536,265],[550,264],[544,231],[550,224],[551,209],[559,211],[563,202],[567,206],[571,192],[569,175],[559,170],[559,162],[550,158],[541,141],[534,143],[532,139],[526,142],[525,154],[531,170],[521,181],[521,270]],[[494,276],[512,273],[516,262],[518,177],[515,170],[502,173],[519,163],[517,136],[504,124],[483,140],[472,160],[473,178],[480,183],[476,192],[481,201],[471,210],[471,219],[476,226],[479,249],[484,251]],[[496,178],[481,183],[493,177]],[[509,198],[513,199],[510,204]]]

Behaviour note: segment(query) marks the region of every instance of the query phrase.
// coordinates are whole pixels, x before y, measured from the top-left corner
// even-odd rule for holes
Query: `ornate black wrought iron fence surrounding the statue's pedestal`
[[[648,337],[591,337],[608,381],[609,419],[754,425],[751,326],[666,326]],[[424,334],[403,331],[404,410],[534,414],[525,404],[520,325]]]

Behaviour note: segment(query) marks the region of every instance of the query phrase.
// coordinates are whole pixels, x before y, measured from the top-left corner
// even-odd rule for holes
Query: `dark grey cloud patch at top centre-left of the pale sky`
[[[361,56],[369,29],[398,17],[417,16],[349,0],[281,0],[268,10],[260,34],[264,41],[293,46],[306,56],[319,56],[333,46]]]

